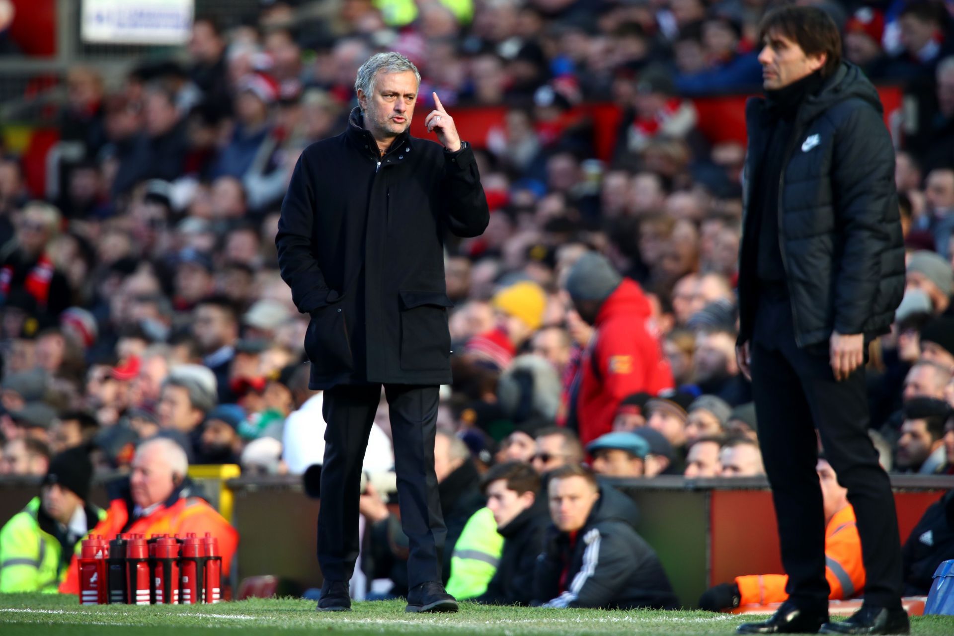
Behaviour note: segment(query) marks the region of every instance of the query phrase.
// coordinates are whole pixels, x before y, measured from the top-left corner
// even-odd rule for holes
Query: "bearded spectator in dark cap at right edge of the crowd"
[[[904,421],[895,470],[931,475],[943,473],[947,465],[944,424],[951,406],[944,400],[912,398],[904,403]]]

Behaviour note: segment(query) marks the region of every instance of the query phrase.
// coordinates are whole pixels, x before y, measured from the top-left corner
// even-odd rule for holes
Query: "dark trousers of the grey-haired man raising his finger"
[[[407,535],[408,588],[441,582],[446,527],[434,474],[437,386],[385,384]],[[358,559],[358,502],[364,449],[381,400],[381,384],[346,384],[324,392],[324,463],[318,516],[318,563],[328,581],[348,581]]]

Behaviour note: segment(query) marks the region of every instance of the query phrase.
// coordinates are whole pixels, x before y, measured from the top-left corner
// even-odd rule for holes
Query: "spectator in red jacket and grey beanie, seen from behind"
[[[584,444],[612,431],[619,402],[639,391],[672,388],[668,362],[646,331],[650,306],[639,286],[624,279],[605,256],[581,256],[565,283],[573,305],[596,328],[596,345],[580,362],[568,425]],[[677,444],[674,444],[677,445]]]

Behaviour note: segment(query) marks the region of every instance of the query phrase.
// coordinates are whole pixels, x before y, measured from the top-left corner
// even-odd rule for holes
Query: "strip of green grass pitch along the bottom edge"
[[[78,605],[74,596],[0,595],[3,636],[252,636],[253,634],[732,634],[753,617],[701,611],[603,611],[462,604],[457,614],[405,614],[404,603],[358,603],[320,614],[312,601],[252,599],[218,605]],[[913,634],[951,636],[954,617],[915,618]]]

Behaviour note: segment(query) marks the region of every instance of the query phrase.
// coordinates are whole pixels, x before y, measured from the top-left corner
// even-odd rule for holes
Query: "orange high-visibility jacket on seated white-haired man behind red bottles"
[[[107,540],[112,540],[120,532],[142,534],[147,539],[154,534],[185,536],[188,532],[195,532],[197,536],[204,537],[206,532],[211,532],[212,536],[218,539],[218,553],[222,557],[222,580],[228,577],[232,557],[239,547],[239,532],[205,500],[198,497],[179,498],[168,507],[159,505],[151,514],[140,517],[127,528],[128,522],[128,503],[124,499],[114,499],[110,503],[110,509],[106,511],[106,518],[96,524],[90,534],[103,535]],[[76,564],[75,555],[59,591],[63,594],[79,593],[79,566]]]

